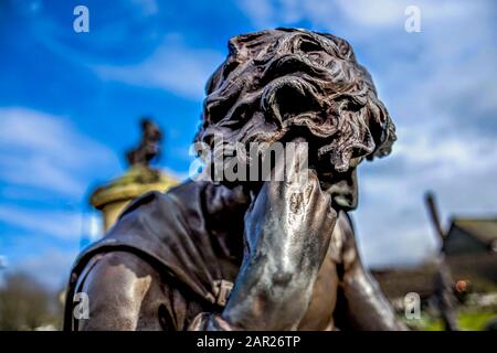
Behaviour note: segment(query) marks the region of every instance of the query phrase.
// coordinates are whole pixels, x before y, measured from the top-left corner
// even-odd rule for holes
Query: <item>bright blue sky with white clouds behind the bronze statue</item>
[[[89,10],[89,33],[73,9]],[[408,6],[421,32],[404,30]],[[203,85],[229,38],[275,26],[347,39],[398,126],[393,154],[360,168],[367,264],[415,264],[436,240],[422,203],[497,214],[497,6],[493,1],[0,2],[0,256],[61,286],[88,232],[88,190],[119,175],[137,119],[166,130],[159,165],[184,175]]]

